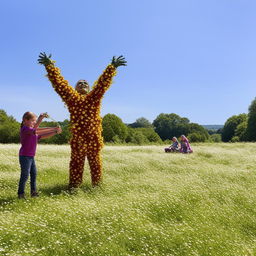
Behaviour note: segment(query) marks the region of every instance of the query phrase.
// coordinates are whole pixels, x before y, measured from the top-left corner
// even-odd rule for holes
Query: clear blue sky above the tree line
[[[102,104],[125,123],[176,113],[224,124],[256,96],[255,0],[6,0],[0,2],[0,108],[69,117],[37,64],[52,53],[74,85],[124,55]]]

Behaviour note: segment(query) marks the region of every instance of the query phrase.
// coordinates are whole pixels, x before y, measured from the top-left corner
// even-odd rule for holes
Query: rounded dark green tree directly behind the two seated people
[[[172,137],[179,137],[189,132],[189,119],[180,117],[177,114],[160,114],[153,121],[156,133],[162,140],[167,140]]]

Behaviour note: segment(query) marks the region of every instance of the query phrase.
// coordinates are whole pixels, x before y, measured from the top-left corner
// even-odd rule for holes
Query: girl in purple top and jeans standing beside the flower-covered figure
[[[61,133],[60,127],[39,128],[43,118],[48,117],[47,113],[40,114],[39,118],[32,112],[23,115],[20,128],[21,148],[19,151],[19,162],[21,167],[18,198],[25,198],[25,186],[30,175],[31,197],[37,197],[36,189],[36,165],[35,154],[37,142],[41,138],[49,138]]]

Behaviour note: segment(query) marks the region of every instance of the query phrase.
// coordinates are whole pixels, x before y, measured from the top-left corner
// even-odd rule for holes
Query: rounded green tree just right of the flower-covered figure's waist
[[[114,114],[105,115],[103,117],[102,127],[102,135],[105,142],[114,142],[115,136],[118,136],[121,142],[125,141],[128,134],[128,128],[118,116]],[[115,137],[115,140],[116,139],[117,138]]]

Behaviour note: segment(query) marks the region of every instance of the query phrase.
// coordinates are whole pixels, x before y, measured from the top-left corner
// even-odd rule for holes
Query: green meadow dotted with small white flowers
[[[256,144],[106,146],[102,187],[86,165],[72,193],[69,146],[39,145],[27,200],[18,149],[0,145],[0,255],[256,255]]]

